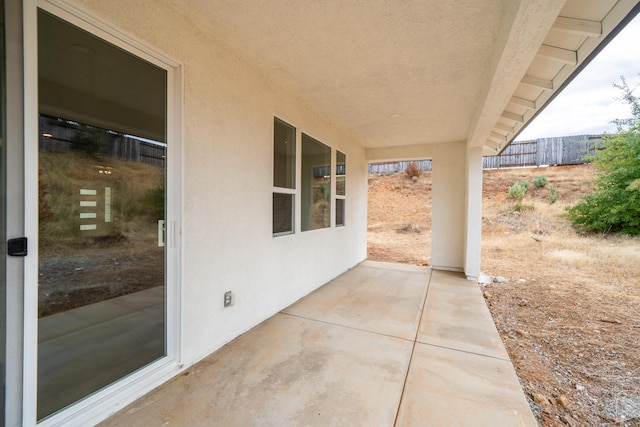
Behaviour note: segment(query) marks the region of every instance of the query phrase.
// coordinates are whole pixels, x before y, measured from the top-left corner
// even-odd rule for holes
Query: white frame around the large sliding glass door
[[[65,21],[133,53],[167,71],[167,356],[37,423],[39,426],[95,424],[128,403],[166,382],[182,370],[181,360],[181,218],[182,218],[182,64],[141,40],[97,19],[66,0],[25,0],[25,235],[29,256],[25,258],[23,425],[37,423],[38,348],[38,49],[37,10],[41,8]]]

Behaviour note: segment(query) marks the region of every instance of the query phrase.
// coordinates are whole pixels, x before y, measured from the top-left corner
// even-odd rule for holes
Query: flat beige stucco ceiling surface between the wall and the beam
[[[161,3],[380,147],[466,139],[510,2]]]

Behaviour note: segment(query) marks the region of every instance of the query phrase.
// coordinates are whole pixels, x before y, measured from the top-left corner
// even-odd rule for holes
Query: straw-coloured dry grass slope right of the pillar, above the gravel
[[[493,202],[485,203],[483,270],[487,274],[510,274],[514,278],[522,276],[524,271],[526,276],[539,278],[561,275],[584,284],[587,289],[612,289],[634,300],[640,277],[639,239],[577,234],[566,219],[565,207],[590,191],[584,182],[593,176],[593,170],[590,166],[572,167],[565,173],[557,169],[552,168],[551,173],[545,174],[549,185],[561,190],[561,198],[556,203],[547,200],[544,188],[529,190],[523,201],[529,207],[525,212],[514,212],[509,200],[501,199],[500,195],[494,197]],[[540,169],[507,171],[503,179],[487,180],[485,192],[492,191],[491,184],[494,189],[499,187],[498,191],[507,185],[498,185],[494,179],[508,183],[540,172]],[[489,172],[491,174],[496,172]]]

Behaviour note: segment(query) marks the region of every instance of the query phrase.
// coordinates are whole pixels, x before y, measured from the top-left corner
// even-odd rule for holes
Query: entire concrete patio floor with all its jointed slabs
[[[364,262],[101,425],[536,426],[496,336],[463,275]]]

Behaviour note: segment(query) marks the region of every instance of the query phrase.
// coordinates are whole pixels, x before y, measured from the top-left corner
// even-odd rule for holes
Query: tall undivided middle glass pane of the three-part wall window
[[[302,135],[302,231],[329,227],[331,148]]]

